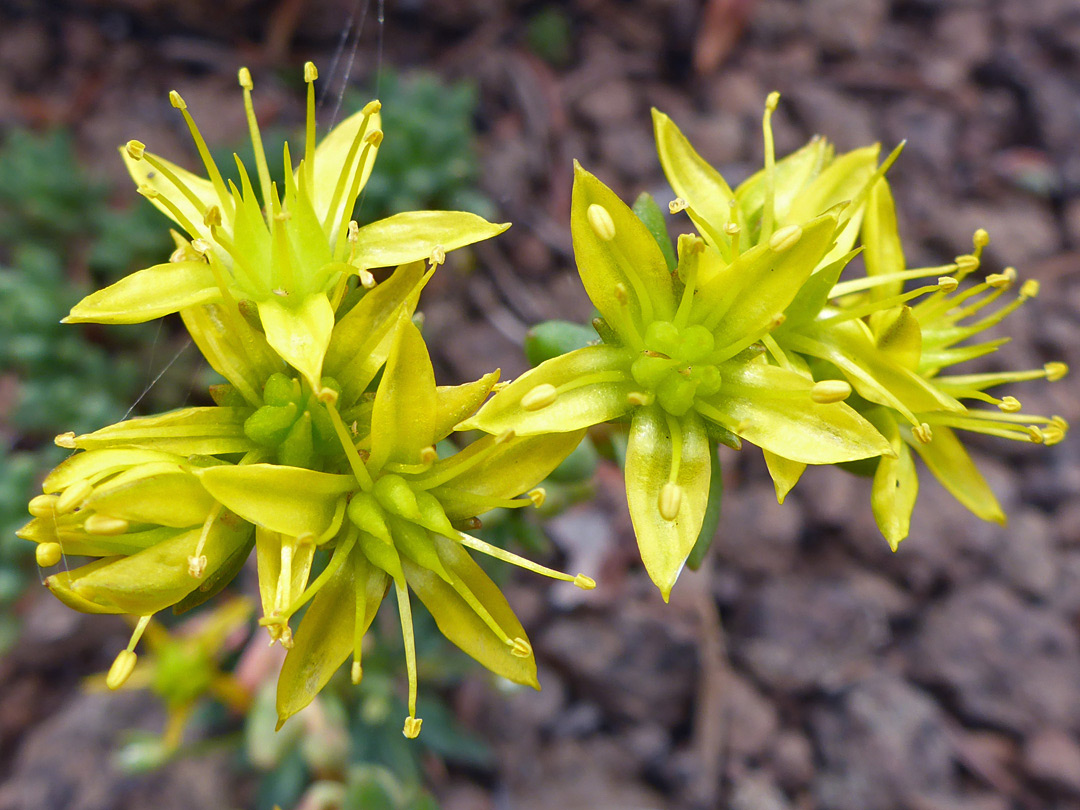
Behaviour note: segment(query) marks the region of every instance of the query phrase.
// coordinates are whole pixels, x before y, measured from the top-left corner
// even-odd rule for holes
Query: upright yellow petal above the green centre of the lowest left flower
[[[435,443],[435,372],[420,330],[400,318],[372,410],[372,473],[388,461],[415,464]]]

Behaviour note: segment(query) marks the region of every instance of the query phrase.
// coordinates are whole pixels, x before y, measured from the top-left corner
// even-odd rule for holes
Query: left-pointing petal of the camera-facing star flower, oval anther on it
[[[498,391],[459,430],[512,430],[530,435],[573,431],[615,419],[630,410],[626,397],[640,388],[630,376],[633,357],[621,347],[586,346],[549,360]],[[552,388],[556,391],[552,402],[537,407],[537,392]]]

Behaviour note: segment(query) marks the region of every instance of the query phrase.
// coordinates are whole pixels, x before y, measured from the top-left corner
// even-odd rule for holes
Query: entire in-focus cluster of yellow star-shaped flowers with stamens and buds
[[[508,226],[462,212],[355,221],[382,141],[379,103],[316,144],[315,79],[309,63],[302,154],[294,166],[285,146],[281,187],[270,179],[246,69],[258,192],[239,159],[239,185],[226,181],[176,93],[206,177],[139,141],[121,148],[139,193],[176,225],[176,249],[92,294],[66,320],[138,323],[178,312],[226,382],[212,388],[212,406],[57,437],[72,455],[30,502],[33,519],[19,535],[38,544],[43,568],[57,569],[50,590],[77,610],[134,618],[107,678],[112,688],[136,670],[154,613],[211,599],[253,550],[259,623],[288,650],[282,723],[347,661],[360,683],[364,634],[391,592],[408,673],[407,737],[421,724],[414,596],[481,664],[537,686],[527,633],[474,553],[583,589],[595,583],[468,531],[490,510],[541,504],[539,485],[599,423],[626,432],[630,515],[664,599],[715,534],[720,444],[760,447],[781,502],[807,464],[859,468],[873,478],[870,505],[895,549],[918,492],[915,456],[977,516],[1003,522],[958,432],[1047,445],[1065,435],[1059,417],[1025,414],[1015,396],[990,393],[1059,379],[1064,364],[953,369],[1008,339],[981,335],[1034,298],[1037,283],[1012,295],[1011,269],[971,281],[983,231],[971,254],[908,269],[885,177],[900,149],[881,161],[877,146],[837,154],[815,138],[778,160],[775,94],[766,104],[765,165],[734,189],[654,112],[676,194],[671,212],[697,230],[675,245],[651,199],[631,208],[576,166],[570,230],[599,315],[596,338],[575,333],[572,350],[549,352],[509,383],[495,370],[438,386],[415,319],[421,291],[447,252]],[[846,272],[858,264],[864,272]],[[450,441],[464,431],[480,437]],[[75,557],[89,562],[69,565]]]

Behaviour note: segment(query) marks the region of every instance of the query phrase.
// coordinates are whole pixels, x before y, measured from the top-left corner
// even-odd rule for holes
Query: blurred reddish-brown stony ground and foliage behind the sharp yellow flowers
[[[734,184],[760,163],[770,90],[781,153],[814,134],[840,149],[907,139],[890,179],[910,266],[967,253],[984,227],[987,271],[1015,265],[1042,283],[993,367],[1080,368],[1075,0],[4,0],[0,810],[1080,807],[1071,436],[972,438],[1009,527],[980,523],[924,475],[895,554],[867,481],[810,470],[778,507],[759,453],[728,453],[719,535],[669,606],[637,562],[619,471],[602,462],[595,499],[542,531],[494,527],[599,582],[505,582],[543,690],[492,683],[421,627],[418,744],[400,732],[392,622],[360,689],[332,685],[278,735],[260,687],[278,659],[261,635],[247,640],[242,611],[166,620],[173,636],[144,657],[150,690],[87,681],[129,629],[63,608],[14,537],[63,458],[52,436],[204,403],[213,381],[178,322],[57,323],[171,249],[117,147],[137,137],[194,168],[175,89],[219,162],[244,153],[241,65],[280,143],[302,123],[306,59],[321,71],[323,131],[382,99],[362,221],[449,207],[514,222],[453,254],[424,294],[441,382],[514,376],[531,324],[590,316],[568,230],[572,159],[626,199],[666,203],[656,106]],[[1080,420],[1068,379],[1011,393]],[[253,701],[246,719],[206,697],[219,665],[234,703]],[[177,752],[161,746],[166,715],[181,721]]]

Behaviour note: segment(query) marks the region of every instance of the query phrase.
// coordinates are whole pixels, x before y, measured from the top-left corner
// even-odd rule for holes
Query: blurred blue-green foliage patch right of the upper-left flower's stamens
[[[378,96],[387,137],[359,204],[361,221],[423,208],[469,211],[490,218],[491,201],[473,188],[480,173],[475,85],[446,84],[426,72],[402,76],[388,70]],[[346,109],[359,109],[367,97],[347,97]]]

